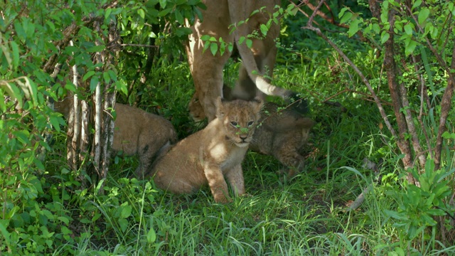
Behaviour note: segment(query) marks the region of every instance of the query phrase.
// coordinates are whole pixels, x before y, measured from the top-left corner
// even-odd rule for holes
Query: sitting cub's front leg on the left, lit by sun
[[[215,198],[215,202],[231,202],[232,200],[228,195],[228,184],[225,181],[220,166],[207,163],[204,165],[204,174],[205,178],[207,178],[208,186],[210,186],[210,191],[212,191],[213,198]]]

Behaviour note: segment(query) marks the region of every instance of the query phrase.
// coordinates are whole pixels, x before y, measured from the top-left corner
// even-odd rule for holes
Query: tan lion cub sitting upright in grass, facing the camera
[[[172,193],[193,193],[208,184],[217,203],[227,203],[227,178],[235,194],[245,193],[242,160],[252,141],[262,101],[218,97],[216,117],[207,127],[182,139],[154,164],[149,176]]]

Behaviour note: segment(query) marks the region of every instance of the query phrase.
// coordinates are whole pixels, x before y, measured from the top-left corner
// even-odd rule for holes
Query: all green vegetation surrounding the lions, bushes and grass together
[[[390,2],[390,6],[395,3],[385,2]],[[284,9],[289,4],[284,2]],[[444,3],[412,4],[419,4],[419,10],[431,9],[429,21],[437,28],[442,26],[437,20],[441,14],[438,4]],[[1,253],[455,252],[454,110],[447,113],[441,168],[435,169],[428,157],[424,168],[415,166],[406,171],[397,138],[385,129],[362,79],[326,41],[301,28],[308,17],[300,11],[282,19],[274,83],[300,92],[311,106],[309,115],[318,123],[304,149],[307,165],[303,174],[289,181],[279,174],[282,166],[278,161],[250,152],[244,163],[250,196],[218,205],[208,190],[191,196],[172,196],[154,189],[150,181],[127,178],[135,169],[136,159],[115,156],[105,180],[83,187],[79,178],[82,170],[71,170],[66,164],[65,120],[48,104],[50,99],[60,100],[65,92],[76,88],[71,81],[58,81],[67,81],[68,67],[77,64],[86,85],[81,94],[91,95],[96,82],[112,82],[118,92],[117,101],[170,119],[179,137],[186,137],[203,127],[191,121],[186,109],[194,89],[182,47],[188,30],[181,25],[184,18],[193,21],[198,15],[196,6],[198,1],[178,0],[0,1],[0,90],[4,95],[0,101]],[[336,21],[346,17],[338,16],[343,9],[344,15],[353,14],[344,18],[350,28],[362,18],[364,23],[358,23],[358,29],[365,33],[368,22],[372,27],[375,22],[363,1],[338,1],[328,7]],[[453,5],[446,9],[453,16]],[[309,6],[301,6],[301,10],[311,15]],[[322,10],[330,13],[327,6]],[[365,43],[349,28],[334,26],[319,16],[315,21],[362,70],[393,119],[393,102],[382,69],[382,31],[369,31],[368,38],[376,43]],[[453,18],[448,21],[431,38],[444,38],[446,46],[453,46]],[[94,26],[96,22],[100,28]],[[119,40],[102,41],[112,23],[119,31]],[[70,40],[75,46],[69,45]],[[400,40],[405,39],[397,40],[404,56],[397,60],[402,64],[400,70],[404,70],[400,81],[409,90],[412,111],[419,112],[421,100],[416,74],[422,75],[431,88],[432,108],[426,110],[423,125],[417,131],[424,138],[424,129],[428,134],[437,133],[439,102],[447,86],[447,73],[432,55],[428,64],[415,72],[412,55],[405,53],[405,42]],[[150,47],[151,44],[158,47]],[[153,54],[151,48],[155,49]],[[117,65],[97,65],[93,56],[102,50],[118,53]],[[449,62],[450,54],[449,47],[445,54]],[[63,63],[58,75],[55,63]],[[237,67],[237,60],[230,60],[225,80],[235,81]],[[328,105],[327,101],[338,102],[342,107]],[[48,134],[53,135],[52,139]],[[434,144],[434,136],[430,142]],[[364,159],[376,167],[368,169]],[[407,183],[405,177],[409,174],[420,186]],[[365,193],[363,204],[348,210],[360,193]]]

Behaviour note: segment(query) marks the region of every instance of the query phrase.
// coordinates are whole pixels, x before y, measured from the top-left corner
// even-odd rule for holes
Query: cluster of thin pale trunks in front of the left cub
[[[102,8],[113,8],[117,2],[102,6]],[[108,70],[114,70],[117,61],[118,47],[118,32],[115,23],[102,24],[103,18],[90,16],[83,18],[85,26],[92,26],[93,30],[100,37],[95,41],[97,46],[105,46],[104,50],[96,52],[92,57],[92,62],[97,64],[97,74],[102,74]],[[105,33],[103,25],[109,27],[108,33]],[[77,40],[75,35],[80,31],[80,27],[75,23],[65,29],[62,41],[55,42],[56,46],[65,48],[65,46],[75,46],[73,41]],[[67,44],[65,44],[67,43]],[[55,65],[57,56],[51,56],[45,63],[44,68]],[[70,63],[70,60],[67,60]],[[106,178],[109,169],[110,149],[112,148],[114,122],[112,115],[106,114],[113,109],[115,102],[115,90],[112,88],[111,82],[105,82],[103,76],[100,76],[95,92],[90,95],[89,86],[90,80],[82,81],[82,71],[86,67],[78,67],[77,65],[68,65],[70,67],[70,79],[76,87],[76,93],[70,93],[72,97],[68,108],[68,139],[67,139],[67,159],[68,166],[73,171],[78,171],[78,178],[82,182],[82,187],[87,187],[87,179],[85,175],[91,176],[92,185],[97,181]],[[82,72],[81,72],[82,71]],[[80,74],[80,73],[82,74]],[[82,93],[82,95],[77,95]],[[93,105],[90,106],[87,100],[92,100]],[[93,108],[92,108],[93,107]],[[107,111],[109,110],[109,111]],[[90,124],[94,128],[94,134],[90,134]],[[89,152],[90,148],[90,152]]]

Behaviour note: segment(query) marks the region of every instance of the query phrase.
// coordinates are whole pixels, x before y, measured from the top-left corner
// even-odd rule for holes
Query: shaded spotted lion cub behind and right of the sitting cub
[[[225,90],[229,92],[229,90]],[[194,119],[204,119],[204,113],[196,95],[189,105]],[[261,112],[259,127],[256,128],[250,149],[268,154],[287,166],[287,174],[294,176],[304,168],[304,157],[299,153],[314,126],[314,121],[301,117],[292,110],[279,110],[277,105],[267,102]]]

